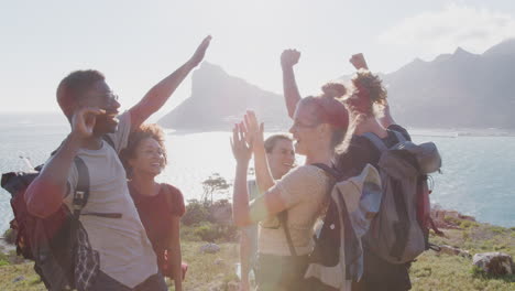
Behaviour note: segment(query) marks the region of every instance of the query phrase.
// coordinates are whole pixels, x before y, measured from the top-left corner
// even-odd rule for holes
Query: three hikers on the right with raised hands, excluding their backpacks
[[[358,72],[350,86],[329,83],[322,86],[319,96],[305,98],[300,98],[293,69],[299,56],[299,52],[286,50],[281,63],[284,97],[293,119],[289,132],[295,140],[295,152],[305,157],[304,165],[282,172],[283,175],[274,171],[272,165],[276,164],[276,158],[265,154],[270,150],[263,142],[263,125],[259,125],[252,111],[233,128],[232,151],[237,160],[234,223],[242,227],[259,225],[256,260],[249,259],[252,258],[249,251],[242,251],[242,290],[249,290],[246,272],[250,269],[254,270],[260,291],[340,290],[310,284],[314,278],[306,272],[313,259],[309,255],[314,249],[315,224],[333,211],[328,208],[331,176],[319,164],[333,169],[343,177],[352,177],[368,164],[377,168],[380,160],[380,151],[362,137],[364,133],[374,133],[387,147],[398,142],[394,131],[410,139],[392,118],[386,89],[381,79],[368,69],[361,54],[351,58]],[[255,192],[246,183],[252,155],[258,190],[263,194],[250,201]],[[242,245],[251,245],[249,236],[243,237]],[[242,247],[242,250],[246,249]],[[359,281],[349,283],[342,290],[409,290],[408,265],[383,260],[363,240],[363,274]]]

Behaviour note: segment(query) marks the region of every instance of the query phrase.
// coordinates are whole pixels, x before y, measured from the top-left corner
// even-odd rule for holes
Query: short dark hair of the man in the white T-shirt
[[[83,97],[83,95],[91,89],[95,83],[105,80],[106,77],[102,73],[96,69],[75,71],[61,80],[57,87],[57,103],[61,110],[68,119],[75,110],[75,105]]]

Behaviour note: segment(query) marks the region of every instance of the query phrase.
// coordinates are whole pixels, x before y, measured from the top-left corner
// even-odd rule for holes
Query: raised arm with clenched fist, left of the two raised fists
[[[297,103],[300,100],[300,93],[295,82],[294,65],[298,63],[300,52],[296,50],[285,50],[281,54],[281,67],[283,68],[283,91],[286,101],[288,116],[293,118]]]

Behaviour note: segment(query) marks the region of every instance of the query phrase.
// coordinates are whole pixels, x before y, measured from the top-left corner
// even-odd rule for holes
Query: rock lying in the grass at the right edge
[[[513,274],[512,256],[503,252],[475,254],[473,263],[493,276]]]

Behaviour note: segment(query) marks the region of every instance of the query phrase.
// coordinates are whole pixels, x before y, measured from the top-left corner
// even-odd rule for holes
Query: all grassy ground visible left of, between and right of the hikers
[[[462,222],[459,222],[460,224]],[[465,224],[463,224],[464,226]],[[431,242],[469,250],[471,255],[502,251],[515,257],[515,228],[474,223],[463,229],[446,230],[446,237],[431,236]],[[184,290],[228,290],[237,281],[238,244],[221,242],[220,252],[202,254],[205,242],[183,241],[183,258],[189,265]],[[0,290],[45,290],[32,270],[31,262],[12,263],[12,255],[0,256]],[[13,282],[23,277],[23,280]],[[491,277],[473,268],[472,260],[459,256],[439,255],[432,250],[417,258],[410,268],[413,290],[515,290],[515,276]],[[174,290],[173,282],[167,282]]]

